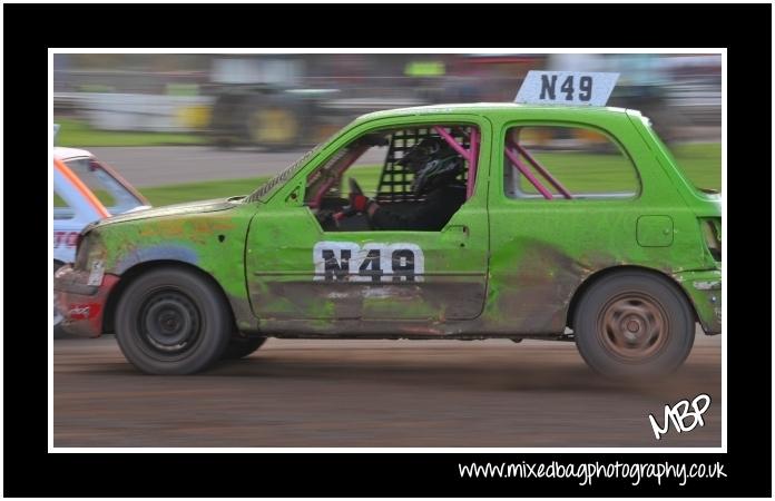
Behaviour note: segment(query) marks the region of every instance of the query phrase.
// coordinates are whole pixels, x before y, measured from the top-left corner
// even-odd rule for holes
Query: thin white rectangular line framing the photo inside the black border
[[[547,49],[547,48],[520,48],[520,49],[503,49],[503,48],[475,48],[475,49],[440,49],[440,48],[423,48],[408,50],[402,49],[353,49],[353,48],[332,48],[332,49],[192,49],[192,48],[161,48],[161,49],[82,49],[82,48],[49,48],[48,49],[48,148],[49,148],[49,165],[53,161],[53,55],[55,53],[703,53],[703,55],[722,55],[722,199],[724,200],[725,187],[727,186],[727,50],[726,48],[684,48],[684,49],[610,49],[610,48],[583,48],[583,49]],[[0,60],[2,56],[0,56]],[[2,71],[2,70],[0,70]],[[2,87],[0,80],[0,90]],[[0,126],[0,129],[2,126]],[[1,141],[2,139],[0,139]],[[0,149],[2,143],[0,143]],[[1,180],[0,180],[1,183]],[[49,194],[53,193],[53,173],[48,170],[48,189]],[[1,209],[0,209],[1,210]],[[53,198],[49,197],[49,263],[53,262]],[[727,206],[722,204],[722,256],[726,259],[727,256]],[[773,237],[775,238],[775,236]],[[0,234],[0,256],[2,252],[2,234]],[[518,453],[605,453],[605,452],[640,452],[640,453],[726,453],[727,452],[727,350],[726,350],[726,323],[727,323],[727,279],[726,266],[722,265],[722,446],[720,448],[55,448],[53,446],[53,337],[50,334],[53,331],[51,315],[49,320],[49,350],[48,350],[48,452],[176,452],[176,453],[195,453],[195,452],[263,452],[263,453],[287,453],[287,452],[306,452],[306,453],[405,453],[405,452],[518,452]],[[53,299],[53,276],[49,273],[49,292],[51,301]],[[0,296],[2,293],[0,292]],[[774,310],[775,312],[775,310]],[[2,348],[0,348],[2,350]],[[773,347],[775,351],[775,346]],[[694,395],[687,395],[693,397]],[[0,405],[2,405],[0,403]],[[1,409],[1,407],[0,407]],[[1,418],[0,418],[1,420]],[[644,420],[644,433],[649,433],[650,430]]]

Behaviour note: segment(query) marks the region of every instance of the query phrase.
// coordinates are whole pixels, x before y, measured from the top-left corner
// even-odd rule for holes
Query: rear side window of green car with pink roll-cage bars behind
[[[640,190],[629,157],[605,134],[583,127],[512,127],[503,166],[509,198],[616,199]]]

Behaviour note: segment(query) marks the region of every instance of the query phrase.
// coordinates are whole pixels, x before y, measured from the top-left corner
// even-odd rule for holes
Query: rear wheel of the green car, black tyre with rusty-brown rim
[[[676,285],[634,269],[606,276],[585,293],[573,334],[583,360],[605,376],[661,376],[691,351],[695,317]]]

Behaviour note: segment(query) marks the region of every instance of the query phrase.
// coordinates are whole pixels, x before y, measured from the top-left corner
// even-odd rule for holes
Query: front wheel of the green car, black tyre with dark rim
[[[166,267],[131,282],[116,310],[116,340],[137,369],[192,374],[220,358],[233,318],[222,292],[193,271]]]

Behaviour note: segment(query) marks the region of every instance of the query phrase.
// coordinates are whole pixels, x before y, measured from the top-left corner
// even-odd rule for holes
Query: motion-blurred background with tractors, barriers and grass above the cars
[[[59,53],[57,145],[88,148],[154,205],[245,194],[359,115],[512,101],[533,69],[619,72],[609,105],[641,110],[720,188],[720,55]]]

